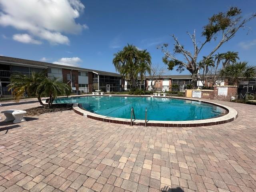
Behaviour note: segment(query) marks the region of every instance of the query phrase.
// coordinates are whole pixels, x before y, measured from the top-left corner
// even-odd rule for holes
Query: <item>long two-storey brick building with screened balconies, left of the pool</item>
[[[60,78],[64,83],[70,84],[73,92],[122,91],[122,76],[117,73],[0,56],[1,95],[11,94],[7,87],[11,74],[30,75],[32,72],[42,72],[45,76]]]

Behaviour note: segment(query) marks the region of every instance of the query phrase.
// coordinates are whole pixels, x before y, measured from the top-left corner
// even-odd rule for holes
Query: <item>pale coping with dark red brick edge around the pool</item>
[[[87,96],[93,96],[93,95],[87,95]],[[110,95],[105,95],[105,96],[110,96]],[[111,95],[111,96],[134,96],[134,95]],[[76,97],[81,97],[81,96],[76,96]],[[83,96],[82,96],[83,97]],[[146,95],[142,95],[140,97],[149,97]],[[158,96],[154,96],[158,97]],[[163,97],[159,97],[163,98]],[[214,102],[210,101],[205,101],[205,100],[198,100],[198,99],[192,99],[192,98],[180,98],[180,97],[175,97],[175,96],[166,96],[166,98],[178,98],[178,99],[185,99],[185,100],[193,100],[196,102],[205,102],[205,103],[210,103],[214,104],[216,106],[220,106],[221,108],[224,108],[225,110],[228,111],[227,114],[216,117],[216,118],[209,118],[209,119],[204,119],[204,120],[191,120],[191,121],[155,121],[155,120],[148,120],[147,121],[147,126],[161,126],[161,127],[197,127],[197,126],[210,126],[210,125],[218,125],[218,124],[224,124],[228,122],[234,121],[238,117],[238,112],[228,106],[222,105],[222,104],[217,104]],[[115,117],[110,117],[110,116],[104,116],[104,115],[99,115],[95,114],[92,112],[89,112],[87,110],[84,110],[80,107],[81,105],[78,103],[73,104],[73,110],[77,114],[80,114],[84,117],[91,118],[94,120],[99,120],[103,122],[110,122],[110,123],[116,123],[116,124],[126,124],[129,125],[131,124],[130,119],[125,119],[125,118],[115,118]],[[132,125],[139,125],[139,126],[145,126],[145,120],[133,120]]]

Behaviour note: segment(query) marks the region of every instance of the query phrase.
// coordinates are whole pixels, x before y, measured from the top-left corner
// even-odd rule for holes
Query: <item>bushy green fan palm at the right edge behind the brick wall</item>
[[[256,75],[256,67],[248,62],[236,62],[220,70],[221,77],[227,77],[232,84],[238,86],[241,78],[252,78]]]

